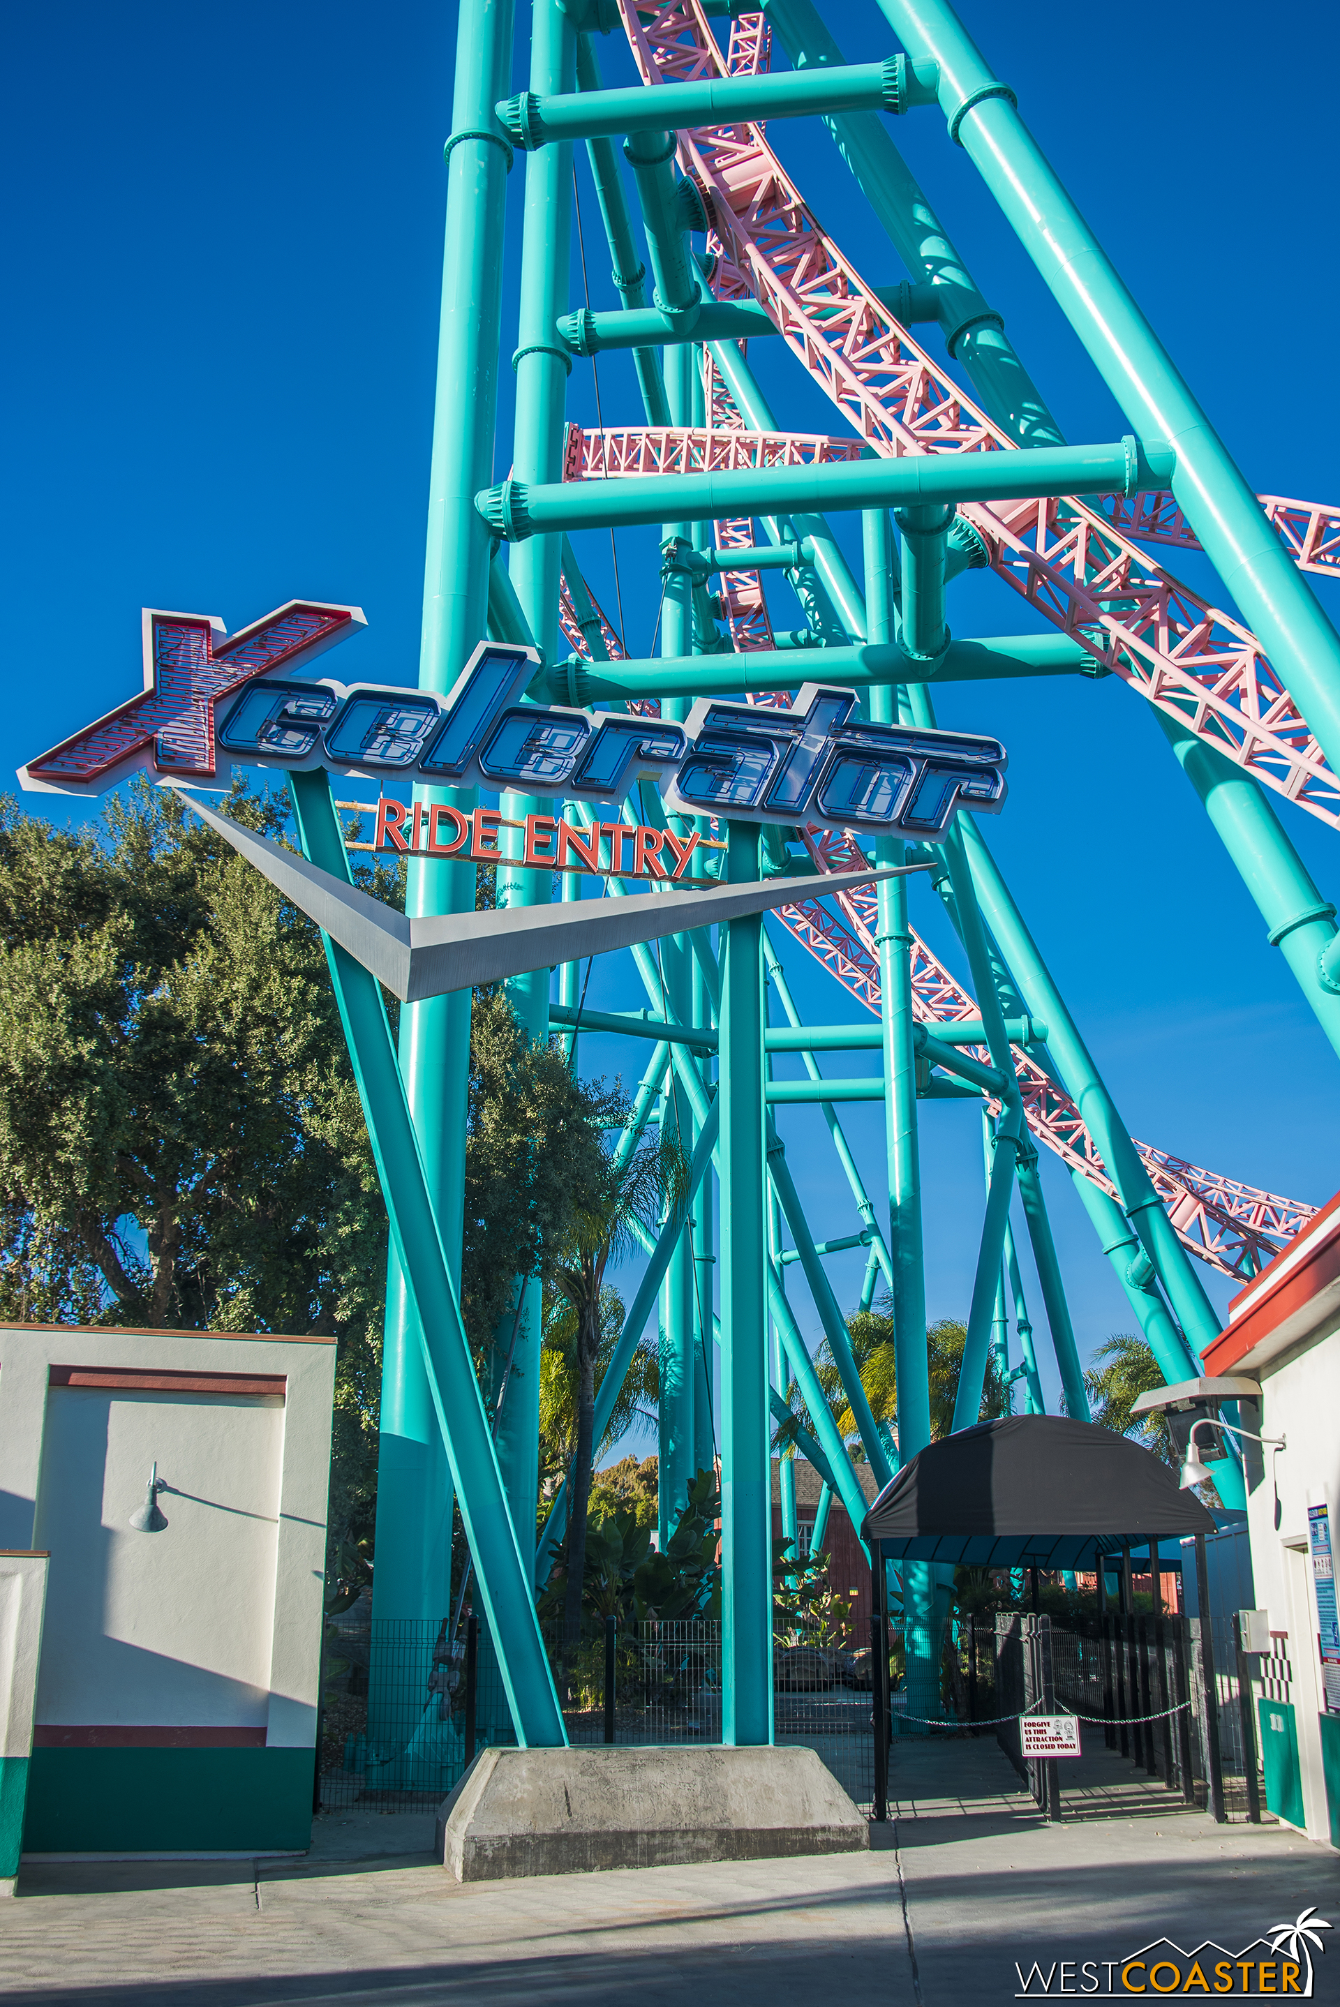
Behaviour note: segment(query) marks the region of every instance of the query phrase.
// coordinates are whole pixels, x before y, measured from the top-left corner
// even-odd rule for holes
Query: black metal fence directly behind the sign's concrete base
[[[546,1650],[572,1744],[712,1744],[722,1740],[720,1622],[606,1626],[604,1636]],[[871,1654],[778,1644],[772,1654],[776,1740],[818,1752],[849,1796],[875,1790]],[[439,1804],[475,1750],[516,1740],[487,1628],[393,1620],[367,1606],[327,1622],[315,1802],[327,1810]]]

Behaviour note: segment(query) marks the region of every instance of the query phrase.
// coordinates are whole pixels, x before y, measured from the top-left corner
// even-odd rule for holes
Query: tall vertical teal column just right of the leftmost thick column
[[[560,0],[536,0],[530,42],[532,90],[572,90],[576,82],[576,34]],[[516,369],[518,480],[552,482],[564,476],[564,409],[572,361],[554,333],[554,321],[568,303],[572,263],[572,147],[548,147],[526,159],[526,221],[522,231],[522,309]],[[516,544],[508,570],[530,632],[544,658],[558,654],[558,592],[564,562],[562,536],[534,536]],[[506,793],[501,813],[524,823],[548,813],[552,803],[538,795]],[[522,831],[499,831],[504,855],[497,865],[497,905],[548,905],[548,871],[520,865]],[[514,975],[506,985],[512,1010],[532,1044],[550,1036],[550,971]],[[518,1276],[520,1305],[514,1301],[493,1335],[495,1377],[506,1375],[506,1397],[497,1417],[497,1461],[518,1533],[528,1539],[540,1495],[540,1280]],[[510,1367],[508,1367],[510,1361]]]

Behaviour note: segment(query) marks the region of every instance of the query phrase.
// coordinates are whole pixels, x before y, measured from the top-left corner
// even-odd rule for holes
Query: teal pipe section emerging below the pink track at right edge
[[[1340,991],[1330,975],[1340,939],[1334,903],[1312,883],[1312,873],[1284,833],[1264,789],[1157,704],[1151,710],[1256,899],[1268,927],[1266,939],[1288,961],[1312,1016],[1340,1054]]]

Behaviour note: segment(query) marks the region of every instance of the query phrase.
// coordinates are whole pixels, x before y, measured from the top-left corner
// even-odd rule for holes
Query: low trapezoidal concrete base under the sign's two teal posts
[[[487,1748],[437,1814],[437,1858],[457,1881],[869,1844],[865,1814],[808,1748]]]

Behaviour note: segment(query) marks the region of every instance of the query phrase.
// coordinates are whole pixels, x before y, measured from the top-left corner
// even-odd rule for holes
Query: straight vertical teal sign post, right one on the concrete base
[[[760,877],[758,829],[728,825],[732,885]],[[722,1742],[772,1742],[762,921],[726,929],[722,1078]]]

